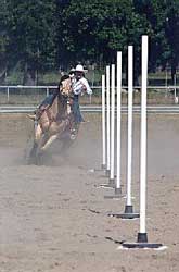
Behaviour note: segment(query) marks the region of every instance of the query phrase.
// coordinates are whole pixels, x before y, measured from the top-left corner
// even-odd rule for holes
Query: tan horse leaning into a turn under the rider
[[[41,104],[34,118],[34,145],[29,154],[29,162],[38,163],[42,152],[55,140],[74,140],[72,127],[75,120],[72,112],[72,83],[71,78],[60,82],[57,91],[52,96],[50,104]],[[28,115],[31,118],[30,115]]]

